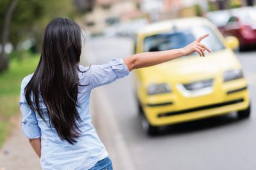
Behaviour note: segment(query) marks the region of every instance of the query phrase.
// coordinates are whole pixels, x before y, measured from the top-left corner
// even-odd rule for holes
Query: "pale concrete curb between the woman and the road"
[[[129,150],[120,131],[115,112],[112,110],[103,88],[92,92],[92,115],[95,128],[106,146],[115,169],[134,170]]]

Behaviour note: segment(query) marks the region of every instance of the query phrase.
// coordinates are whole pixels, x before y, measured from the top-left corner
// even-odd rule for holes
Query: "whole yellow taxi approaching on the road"
[[[224,39],[205,18],[183,18],[147,25],[138,32],[135,51],[182,48],[209,33],[202,43],[212,53],[196,53],[136,70],[136,97],[142,125],[155,134],[163,125],[188,122],[237,111],[249,117],[250,100],[234,37]]]

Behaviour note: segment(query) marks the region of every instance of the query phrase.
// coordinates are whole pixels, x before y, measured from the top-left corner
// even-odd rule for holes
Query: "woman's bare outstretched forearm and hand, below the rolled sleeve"
[[[197,52],[201,57],[205,57],[205,50],[208,52],[211,52],[211,50],[200,42],[207,36],[209,36],[209,34],[201,36],[200,38],[196,39],[196,41],[188,46],[185,46],[184,48],[162,52],[137,53],[124,59],[124,63],[128,67],[129,71],[132,71],[132,69],[154,66],[178,57],[187,56],[194,52]]]

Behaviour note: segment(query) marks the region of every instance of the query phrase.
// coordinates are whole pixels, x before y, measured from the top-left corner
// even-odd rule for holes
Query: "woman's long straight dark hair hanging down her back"
[[[52,20],[45,29],[38,66],[25,88],[31,110],[45,121],[40,110],[42,97],[49,123],[61,139],[71,144],[80,133],[81,118],[76,107],[81,46],[81,28],[76,22],[68,18]]]

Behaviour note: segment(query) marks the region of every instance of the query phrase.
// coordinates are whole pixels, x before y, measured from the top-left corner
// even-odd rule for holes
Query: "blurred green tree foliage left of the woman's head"
[[[8,4],[17,0],[0,1],[0,25],[4,23],[4,14],[8,9]],[[33,39],[35,49],[40,52],[42,33],[45,25],[56,17],[74,18],[77,15],[74,0],[22,0],[17,2],[17,7],[13,11],[10,22],[10,36],[6,42],[12,43],[17,50],[19,43],[26,39]],[[3,28],[1,27],[3,32]],[[2,39],[0,34],[0,38]]]

